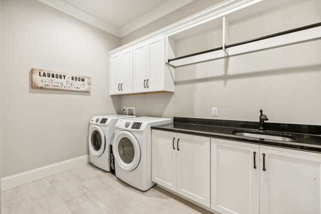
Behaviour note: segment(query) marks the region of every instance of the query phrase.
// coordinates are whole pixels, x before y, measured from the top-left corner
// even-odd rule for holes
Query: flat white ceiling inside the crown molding
[[[194,0],[38,0],[123,37]]]

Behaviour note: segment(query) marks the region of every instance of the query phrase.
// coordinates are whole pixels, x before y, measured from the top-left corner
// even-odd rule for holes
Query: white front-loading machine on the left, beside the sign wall
[[[109,145],[115,137],[115,124],[119,119],[131,118],[129,115],[94,116],[89,121],[89,159],[95,166],[110,171]]]

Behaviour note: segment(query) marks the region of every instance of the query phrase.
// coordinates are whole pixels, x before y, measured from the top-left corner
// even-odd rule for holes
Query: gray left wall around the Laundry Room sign
[[[88,154],[93,115],[114,114],[108,51],[120,39],[36,0],[1,2],[2,176]],[[91,77],[91,92],[33,89],[31,69]]]

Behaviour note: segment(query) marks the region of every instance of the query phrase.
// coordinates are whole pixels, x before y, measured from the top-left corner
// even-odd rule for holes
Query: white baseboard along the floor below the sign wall
[[[26,172],[10,175],[1,179],[1,191],[30,183],[32,181],[39,180],[69,169],[73,169],[87,163],[89,163],[88,154],[54,163],[48,166],[43,166],[37,169],[32,169]]]

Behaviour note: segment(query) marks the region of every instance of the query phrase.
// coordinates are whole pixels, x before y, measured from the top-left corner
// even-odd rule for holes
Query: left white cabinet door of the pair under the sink
[[[211,138],[211,208],[259,213],[259,170],[258,145]]]

